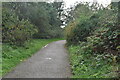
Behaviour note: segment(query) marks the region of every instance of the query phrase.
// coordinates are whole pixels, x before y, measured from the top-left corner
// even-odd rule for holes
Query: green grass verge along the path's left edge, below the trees
[[[2,45],[2,76],[11,71],[20,62],[25,61],[46,44],[61,39],[34,39],[25,44],[25,47]]]

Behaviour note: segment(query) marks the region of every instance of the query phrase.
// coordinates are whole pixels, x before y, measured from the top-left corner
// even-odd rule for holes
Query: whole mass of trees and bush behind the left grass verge
[[[62,37],[63,2],[3,2],[3,43],[22,45],[32,38]]]

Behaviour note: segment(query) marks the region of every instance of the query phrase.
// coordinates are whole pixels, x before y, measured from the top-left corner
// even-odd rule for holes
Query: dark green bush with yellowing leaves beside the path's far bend
[[[69,44],[78,44],[79,41],[86,41],[86,37],[90,36],[91,32],[95,30],[99,21],[98,18],[99,16],[94,14],[89,19],[70,23],[65,30],[67,42]]]

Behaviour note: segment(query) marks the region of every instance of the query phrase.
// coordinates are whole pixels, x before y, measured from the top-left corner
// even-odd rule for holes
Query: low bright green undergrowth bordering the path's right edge
[[[114,78],[118,74],[118,64],[113,64],[111,58],[104,58],[105,54],[92,54],[91,50],[84,50],[80,46],[69,46],[72,78]]]

